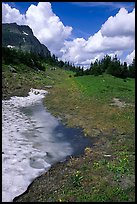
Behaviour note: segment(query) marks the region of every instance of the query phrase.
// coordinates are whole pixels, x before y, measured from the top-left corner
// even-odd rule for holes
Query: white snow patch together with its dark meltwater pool
[[[2,202],[12,202],[52,164],[83,153],[91,141],[43,106],[47,91],[2,101]]]

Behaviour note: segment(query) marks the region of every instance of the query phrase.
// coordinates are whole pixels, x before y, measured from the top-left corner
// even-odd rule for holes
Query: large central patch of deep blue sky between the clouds
[[[109,6],[107,2],[104,6],[99,6],[99,2],[95,2],[95,4],[91,2],[52,3],[53,11],[66,25],[71,25],[75,29],[74,34],[77,37],[84,36],[86,38],[97,32],[109,16],[118,12],[119,8],[115,8],[114,4]],[[122,2],[121,7],[123,5],[132,7],[134,3]],[[89,20],[87,21],[87,19]]]

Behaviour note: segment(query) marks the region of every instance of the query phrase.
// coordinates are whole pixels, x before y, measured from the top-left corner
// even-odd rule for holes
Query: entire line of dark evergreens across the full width
[[[135,78],[135,58],[130,65],[126,62],[121,63],[117,55],[111,59],[109,55],[105,55],[102,60],[96,59],[94,63],[91,62],[90,67],[86,70],[80,66],[75,66],[69,61],[58,60],[53,55],[47,57],[41,56],[34,52],[23,52],[22,50],[11,49],[2,47],[2,61],[5,64],[20,64],[23,63],[31,68],[45,71],[44,63],[51,66],[57,66],[65,70],[75,72],[74,76],[83,75],[101,75],[103,73],[111,74],[120,78]]]

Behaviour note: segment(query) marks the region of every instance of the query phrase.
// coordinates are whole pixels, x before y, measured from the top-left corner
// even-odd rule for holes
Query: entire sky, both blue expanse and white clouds
[[[2,23],[13,22],[75,65],[106,54],[130,64],[135,56],[135,2],[3,2]]]

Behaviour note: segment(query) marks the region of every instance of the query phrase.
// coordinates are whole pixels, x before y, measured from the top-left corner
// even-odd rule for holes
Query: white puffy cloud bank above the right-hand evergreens
[[[76,64],[101,59],[106,54],[122,56],[125,51],[135,48],[135,9],[128,13],[121,8],[114,17],[110,17],[101,29],[87,40],[76,38],[65,42],[63,59]],[[123,60],[122,60],[123,61]]]

